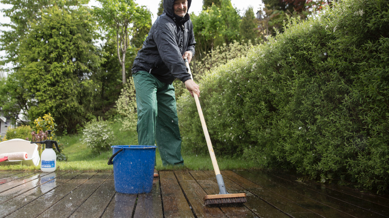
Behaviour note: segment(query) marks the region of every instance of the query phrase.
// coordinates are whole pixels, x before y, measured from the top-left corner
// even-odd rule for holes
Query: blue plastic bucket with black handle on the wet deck
[[[153,187],[155,149],[147,145],[114,145],[108,165],[113,164],[115,190],[125,194],[148,193]]]

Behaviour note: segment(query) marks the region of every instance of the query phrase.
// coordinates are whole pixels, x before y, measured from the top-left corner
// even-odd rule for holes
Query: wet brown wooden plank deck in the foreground
[[[222,171],[241,206],[208,207],[218,193],[213,171],[160,171],[151,193],[115,192],[112,172],[0,171],[0,218],[389,218],[389,197],[298,182],[276,171]]]

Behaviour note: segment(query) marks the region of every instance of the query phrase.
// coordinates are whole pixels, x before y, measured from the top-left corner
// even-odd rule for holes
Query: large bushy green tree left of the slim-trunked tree
[[[33,121],[51,112],[60,131],[76,132],[93,118],[99,85],[96,72],[103,59],[93,45],[95,23],[88,8],[42,11],[20,42],[14,74],[26,90],[28,117]]]

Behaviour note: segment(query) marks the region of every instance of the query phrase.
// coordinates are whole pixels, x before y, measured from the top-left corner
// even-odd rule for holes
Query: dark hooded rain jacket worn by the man
[[[188,0],[188,11],[192,0]],[[195,55],[193,24],[187,13],[184,17],[173,12],[174,0],[163,0],[163,14],[150,29],[141,50],[132,65],[132,73],[146,71],[159,81],[172,84],[175,78],[182,82],[190,79],[182,59],[185,51]]]

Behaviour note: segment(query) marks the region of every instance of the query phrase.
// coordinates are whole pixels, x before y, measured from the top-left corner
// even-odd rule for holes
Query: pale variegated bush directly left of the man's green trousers
[[[123,124],[122,130],[137,130],[137,101],[134,80],[132,77],[127,79],[127,83],[122,89],[119,99],[116,101],[117,112],[122,118],[116,119]]]

